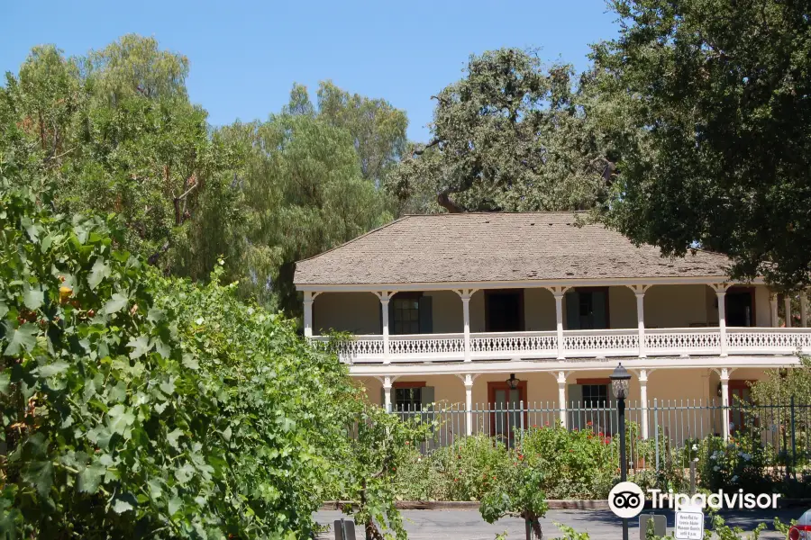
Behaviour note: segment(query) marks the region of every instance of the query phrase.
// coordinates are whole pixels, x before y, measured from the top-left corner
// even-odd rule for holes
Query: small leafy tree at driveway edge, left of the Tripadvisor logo
[[[519,516],[526,524],[526,540],[542,538],[540,519],[546,514],[546,494],[542,491],[543,473],[539,468],[524,464],[516,454],[515,467],[505,482],[498,482],[481,500],[479,512],[488,523],[505,516]]]

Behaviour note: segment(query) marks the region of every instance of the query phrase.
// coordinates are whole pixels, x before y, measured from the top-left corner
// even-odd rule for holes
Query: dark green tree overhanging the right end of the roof
[[[731,274],[811,284],[811,21],[806,2],[615,0],[593,51],[593,111],[618,147],[606,220]]]

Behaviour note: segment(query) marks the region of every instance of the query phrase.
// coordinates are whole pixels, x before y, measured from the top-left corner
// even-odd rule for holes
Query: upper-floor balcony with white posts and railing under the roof
[[[323,293],[312,305],[314,328],[354,335],[341,347],[351,364],[811,353],[811,329],[775,328],[762,285]]]

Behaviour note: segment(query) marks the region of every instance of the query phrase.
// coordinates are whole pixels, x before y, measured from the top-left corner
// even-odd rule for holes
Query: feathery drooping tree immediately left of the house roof
[[[278,302],[287,313],[301,309],[293,286],[297,260],[392,219],[376,175],[391,166],[397,140],[405,138],[402,112],[378,107],[386,111],[379,123],[403,120],[396,129],[399,139],[384,142],[385,134],[374,135],[376,114],[352,104],[374,110],[374,103],[329,83],[321,85],[319,96],[329,98],[328,112],[321,97],[316,109],[305,87],[295,85],[290,102],[268,121],[235,123],[216,133],[216,139],[241,148],[244,156],[235,173],[246,220],[238,265],[240,274],[250,278],[243,290]]]

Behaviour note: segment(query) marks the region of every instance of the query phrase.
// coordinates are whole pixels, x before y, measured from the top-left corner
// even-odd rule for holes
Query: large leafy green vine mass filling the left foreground
[[[0,535],[307,536],[364,407],[336,357],[0,182]]]

